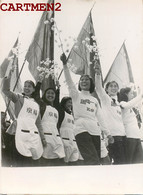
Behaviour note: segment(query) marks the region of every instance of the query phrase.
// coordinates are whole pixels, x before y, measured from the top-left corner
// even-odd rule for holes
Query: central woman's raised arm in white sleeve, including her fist
[[[76,99],[78,96],[78,91],[75,87],[75,84],[73,83],[72,78],[71,78],[70,71],[69,71],[69,68],[67,66],[67,58],[66,58],[66,55],[64,53],[61,56],[61,61],[63,62],[64,75],[65,75],[66,83],[68,85],[68,90],[69,90],[70,96],[72,98]]]

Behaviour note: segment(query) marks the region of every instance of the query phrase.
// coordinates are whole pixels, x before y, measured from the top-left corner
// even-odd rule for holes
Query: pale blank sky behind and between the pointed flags
[[[9,2],[3,0],[2,2]],[[12,0],[10,2],[46,2],[41,0]],[[101,67],[105,77],[114,61],[123,41],[127,47],[135,83],[143,88],[143,4],[142,0],[57,0],[61,3],[60,12],[56,12],[56,23],[62,31],[61,38],[66,50],[64,39],[69,36],[76,38],[86,17],[93,6],[92,18],[97,44],[100,53]],[[20,32],[20,63],[31,43],[42,12],[2,12],[0,11],[0,63],[8,55]],[[73,42],[68,39],[70,47]],[[62,67],[59,60],[62,51],[55,45],[55,61]],[[75,82],[77,76],[72,75]],[[24,66],[22,82],[33,79]],[[33,79],[34,80],[34,79]],[[61,77],[62,94],[67,94],[63,75]]]

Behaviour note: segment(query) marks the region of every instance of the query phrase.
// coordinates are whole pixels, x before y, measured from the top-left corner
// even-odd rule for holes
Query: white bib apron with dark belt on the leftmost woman
[[[43,146],[35,122],[39,114],[39,106],[33,99],[24,98],[24,104],[17,118],[16,148],[26,157],[39,159]]]

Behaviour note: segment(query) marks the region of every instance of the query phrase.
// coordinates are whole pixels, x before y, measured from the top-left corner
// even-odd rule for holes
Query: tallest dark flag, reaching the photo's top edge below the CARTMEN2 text
[[[48,3],[54,3],[49,0]],[[29,70],[35,80],[38,80],[39,71],[37,67],[42,61],[53,61],[54,59],[54,11],[44,11],[36,29],[34,38],[29,46],[28,52],[25,56],[29,62]],[[47,81],[43,82],[43,90],[47,87]]]

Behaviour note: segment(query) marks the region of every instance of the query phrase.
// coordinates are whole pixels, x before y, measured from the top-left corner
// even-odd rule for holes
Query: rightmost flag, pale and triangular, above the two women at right
[[[131,64],[129,56],[126,50],[125,43],[121,46],[105,80],[104,83],[110,81],[116,81],[119,84],[119,88],[128,86],[130,83],[134,83]]]

